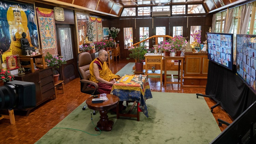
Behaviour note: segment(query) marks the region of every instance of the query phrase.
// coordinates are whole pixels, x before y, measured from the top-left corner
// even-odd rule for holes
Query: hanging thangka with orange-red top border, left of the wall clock
[[[54,12],[51,9],[37,7],[38,24],[42,43],[42,52],[57,55],[57,37]]]

